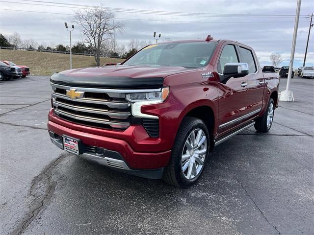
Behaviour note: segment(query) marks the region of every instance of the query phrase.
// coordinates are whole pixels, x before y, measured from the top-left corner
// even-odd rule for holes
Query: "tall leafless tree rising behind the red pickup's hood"
[[[87,10],[75,12],[74,22],[82,26],[85,41],[91,47],[96,65],[100,66],[100,53],[102,43],[112,39],[114,30],[122,30],[123,24],[114,24],[114,15],[102,6],[94,6]]]

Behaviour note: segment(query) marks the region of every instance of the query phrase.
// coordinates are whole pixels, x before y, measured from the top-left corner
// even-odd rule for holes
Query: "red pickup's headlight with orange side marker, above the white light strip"
[[[126,99],[132,103],[138,101],[164,101],[169,95],[169,87],[163,87],[160,92],[131,93]]]

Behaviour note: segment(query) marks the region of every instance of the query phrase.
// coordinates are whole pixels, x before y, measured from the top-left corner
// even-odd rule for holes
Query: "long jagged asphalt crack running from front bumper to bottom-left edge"
[[[9,235],[21,235],[42,208],[49,204],[57,183],[52,180],[52,172],[66,156],[66,153],[61,154],[33,178],[27,194],[27,198],[32,199],[28,206],[29,210]]]

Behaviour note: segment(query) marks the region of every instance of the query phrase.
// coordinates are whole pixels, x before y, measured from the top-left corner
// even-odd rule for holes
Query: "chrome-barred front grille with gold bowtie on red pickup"
[[[130,126],[131,103],[125,99],[126,91],[51,85],[54,113],[60,118],[103,128]]]

